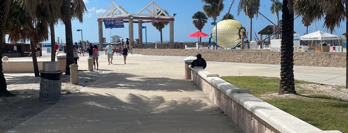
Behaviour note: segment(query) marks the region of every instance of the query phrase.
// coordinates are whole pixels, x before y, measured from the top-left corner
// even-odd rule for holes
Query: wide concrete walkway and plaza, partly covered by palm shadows
[[[114,56],[108,65],[102,52],[99,71],[110,71],[81,92],[60,102],[8,133],[241,133],[191,80],[184,78],[186,57]],[[79,69],[87,70],[81,56]],[[204,55],[203,55],[204,58]],[[31,58],[10,58],[31,60]],[[49,61],[48,54],[38,61]],[[279,77],[279,65],[208,62],[220,76]],[[345,84],[346,68],[294,67],[295,79]]]

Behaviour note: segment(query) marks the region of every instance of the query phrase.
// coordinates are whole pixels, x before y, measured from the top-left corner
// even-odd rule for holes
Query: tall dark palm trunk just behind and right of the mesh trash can
[[[70,65],[74,63],[74,53],[73,53],[73,31],[71,28],[71,9],[70,0],[64,0],[63,3],[63,15],[64,15],[64,25],[65,25],[65,42],[66,42],[66,66],[65,75],[70,75]]]

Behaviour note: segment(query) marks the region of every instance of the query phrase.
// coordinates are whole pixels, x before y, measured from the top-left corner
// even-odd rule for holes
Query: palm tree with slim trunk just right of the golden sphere
[[[252,18],[257,17],[257,11],[260,7],[260,0],[239,0],[237,7],[237,15],[243,10],[246,16],[250,18],[250,41],[252,40]]]

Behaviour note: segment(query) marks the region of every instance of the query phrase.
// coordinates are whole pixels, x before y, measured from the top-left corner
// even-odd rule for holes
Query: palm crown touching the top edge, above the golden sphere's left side
[[[216,22],[217,16],[220,16],[220,12],[224,9],[224,0],[202,0],[206,4],[203,5],[203,10],[208,17],[212,17]]]

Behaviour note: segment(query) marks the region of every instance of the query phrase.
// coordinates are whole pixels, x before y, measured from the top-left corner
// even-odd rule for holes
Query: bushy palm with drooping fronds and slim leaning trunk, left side
[[[26,1],[26,0],[24,0]],[[33,5],[23,6],[22,1],[11,2],[8,19],[5,23],[5,32],[9,34],[11,42],[25,42],[30,40],[33,67],[35,76],[40,76],[37,65],[35,46],[42,41],[48,40],[48,25],[46,19],[49,17],[41,1],[32,2]],[[37,4],[37,5],[35,5]],[[35,8],[34,12],[27,12],[25,8]]]

